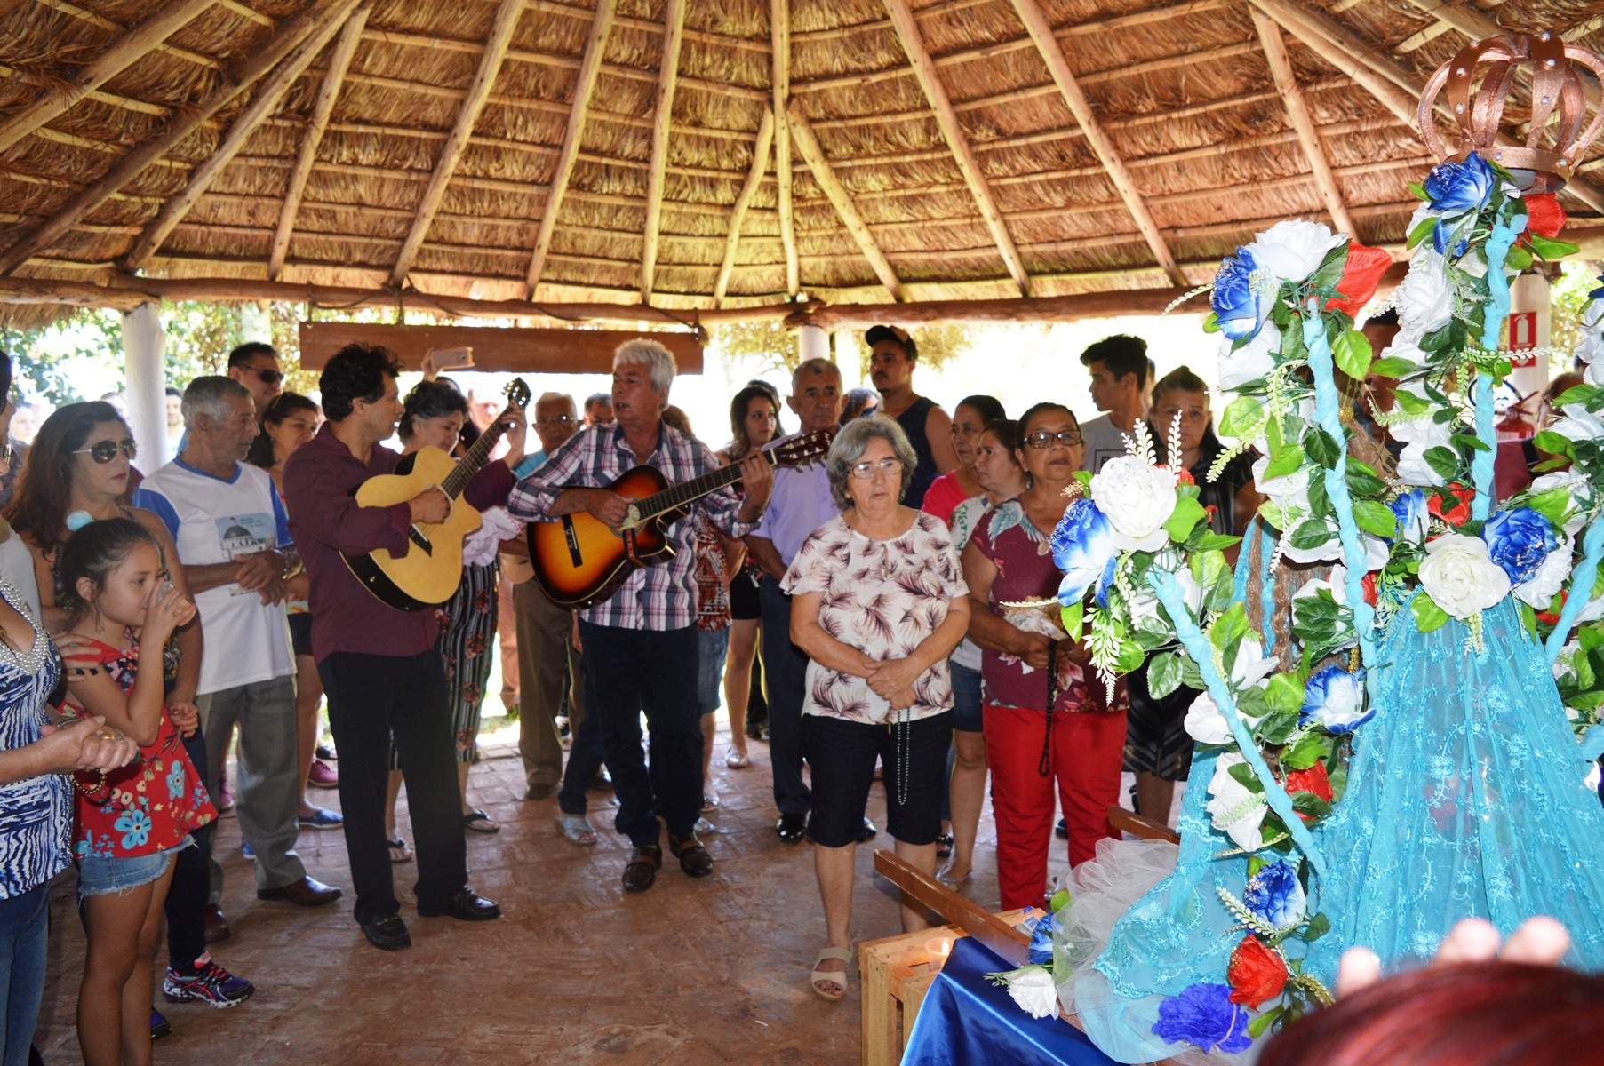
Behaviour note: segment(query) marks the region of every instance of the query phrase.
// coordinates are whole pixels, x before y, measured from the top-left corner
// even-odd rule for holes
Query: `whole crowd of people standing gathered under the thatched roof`
[[[354,919],[379,949],[411,943],[403,862],[415,862],[420,915],[497,919],[468,886],[465,853],[465,832],[499,829],[468,793],[497,641],[528,800],[555,800],[558,834],[584,846],[597,842],[589,793],[611,789],[613,829],[630,842],[626,893],[653,886],[664,845],[688,877],[714,869],[699,827],[720,802],[720,702],[725,768],[752,768],[749,739],[767,736],[773,830],[815,845],[824,946],[808,987],[828,1000],[847,991],[853,856],[879,832],[866,816],[876,781],[897,853],[962,891],[990,777],[999,899],[983,902],[1004,909],[1041,902],[1054,834],[1071,864],[1115,835],[1121,771],[1136,774],[1132,806],[1166,821],[1193,692],[1153,699],[1140,670],[1091,684],[1057,611],[1019,604],[1057,588],[1047,542],[1076,474],[1124,454],[1144,420],[1161,458],[1179,447],[1168,462],[1203,487],[1214,529],[1240,532],[1258,505],[1251,458],[1217,462],[1206,385],[1185,367],[1155,380],[1145,343],[1116,335],[1081,354],[1105,412],[1086,425],[1054,401],[1011,418],[985,394],[948,414],[914,391],[906,332],[879,325],[866,341],[873,390],[804,361],[786,394],[764,382],[735,394],[719,450],[669,404],[674,357],[651,340],[618,349],[610,393],[541,394],[533,441],[516,404],[427,365],[403,398],[383,348],[330,357],[313,399],[282,391],[273,348],[242,345],[226,374],[172,390],[159,446],[173,457],[143,479],[141,442],[107,401],[59,407],[26,447],[8,442],[0,1063],[27,1061],[45,891],[69,862],[88,943],[85,1063],[148,1063],[167,1029],[144,1015],[164,917],[167,1000],[250,997],[209,947],[229,936],[210,856],[220,811],[237,813],[258,898],[302,907],[345,890],[306,872],[298,834],[343,830]],[[10,375],[6,359],[0,430],[19,414]],[[1360,422],[1386,410],[1381,385]],[[366,507],[359,487],[483,434],[499,438],[475,449],[489,462],[460,468],[456,487],[484,521],[456,595],[387,604],[346,558],[406,555],[457,492]],[[829,441],[823,462],[772,466],[770,449],[810,434]],[[670,558],[585,606],[553,600],[521,527],[579,513],[629,526],[634,500],[610,486],[642,463],[669,484],[727,466],[739,481],[682,503]],[[754,665],[760,726],[747,721]],[[319,737],[324,701],[338,773]],[[395,816],[403,782],[411,842]],[[313,803],[313,785],[337,787],[338,811]],[[924,920],[905,907],[906,930]]]

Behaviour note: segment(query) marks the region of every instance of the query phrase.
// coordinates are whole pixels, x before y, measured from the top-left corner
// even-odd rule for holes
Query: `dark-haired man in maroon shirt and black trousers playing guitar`
[[[401,364],[385,348],[346,345],[322,369],[329,417],[311,442],[284,465],[290,534],[311,580],[313,654],[329,696],[329,725],[340,747],[340,808],[356,886],[356,920],[374,947],[398,951],[412,939],[385,846],[385,781],[395,739],[417,838],[417,912],[465,922],[500,917],[500,907],[468,888],[457,768],[444,664],[433,611],[380,603],[346,567],[342,553],[409,550],[414,523],[439,523],[451,502],[428,489],[406,503],[359,507],[356,489],[395,473],[401,457],[380,441],[401,417]],[[464,492],[475,507],[507,499],[512,471],[484,466]]]

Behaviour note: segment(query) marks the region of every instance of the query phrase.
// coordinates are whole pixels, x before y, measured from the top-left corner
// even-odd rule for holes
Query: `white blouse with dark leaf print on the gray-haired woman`
[[[906,659],[946,620],[948,604],[969,595],[946,524],[921,511],[908,532],[865,537],[836,516],[802,543],[781,588],[792,596],[823,593],[818,624],[869,659]],[[953,680],[940,659],[914,681],[909,718],[953,709]],[[804,715],[879,725],[890,704],[863,678],[807,664]]]

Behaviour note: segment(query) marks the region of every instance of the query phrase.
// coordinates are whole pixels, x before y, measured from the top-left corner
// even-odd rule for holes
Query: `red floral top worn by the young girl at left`
[[[104,670],[127,694],[133,689],[140,643],[130,636],[130,648],[112,648],[90,641],[66,656],[67,678]],[[83,707],[69,694],[61,710],[69,717]],[[162,709],[162,725],[156,744],[140,749],[140,758],[104,776],[80,771],[77,789],[77,824],[72,830],[72,854],[77,858],[127,859],[176,848],[191,830],[217,819],[205,784],[184,753],[178,728]]]

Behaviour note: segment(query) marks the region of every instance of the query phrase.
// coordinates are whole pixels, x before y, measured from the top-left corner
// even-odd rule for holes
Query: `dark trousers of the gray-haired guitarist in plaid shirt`
[[[696,709],[696,627],[653,632],[579,622],[585,648],[585,721],[602,726],[618,795],[613,827],[637,848],[696,829],[701,813],[701,713]],[[651,729],[651,768],[640,744],[640,712]],[[340,752],[345,773],[345,750]],[[661,821],[659,821],[661,816]]]

